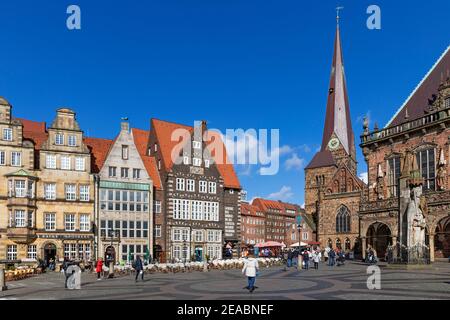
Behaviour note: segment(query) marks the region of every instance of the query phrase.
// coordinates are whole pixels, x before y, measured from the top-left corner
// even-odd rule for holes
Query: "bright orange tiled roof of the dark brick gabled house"
[[[172,168],[173,162],[172,162],[172,150],[174,147],[181,141],[172,141],[172,134],[177,129],[185,129],[190,134],[194,132],[194,128],[191,126],[185,126],[177,123],[162,121],[158,119],[152,119],[152,130],[154,130],[156,139],[158,140],[158,145],[161,150],[162,154],[162,161],[164,164],[164,167],[167,171],[169,171]],[[214,140],[209,142],[209,146],[212,147],[213,143],[216,141],[215,139],[221,139],[220,135],[218,133],[215,133],[213,131],[208,131],[209,134],[211,134],[214,137]],[[219,154],[214,154],[214,152],[211,154],[211,156],[214,157],[216,161],[217,169],[222,176],[224,180],[225,187],[228,188],[236,188],[240,189],[240,183],[239,179],[236,175],[236,172],[234,171],[234,167],[232,164],[229,163],[226,153],[225,144],[220,140],[221,145],[223,146],[222,150],[222,157],[223,159],[219,159]],[[214,146],[217,144],[214,143]]]

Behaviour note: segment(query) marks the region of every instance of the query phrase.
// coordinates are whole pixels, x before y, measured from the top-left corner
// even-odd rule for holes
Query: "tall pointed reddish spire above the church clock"
[[[321,151],[327,149],[333,135],[339,139],[348,155],[355,150],[354,135],[350,119],[350,107],[347,96],[347,84],[345,82],[344,59],[341,47],[341,35],[339,30],[339,11],[336,8],[336,38],[334,42],[333,65],[331,68],[330,87],[328,92],[325,126],[323,130]]]

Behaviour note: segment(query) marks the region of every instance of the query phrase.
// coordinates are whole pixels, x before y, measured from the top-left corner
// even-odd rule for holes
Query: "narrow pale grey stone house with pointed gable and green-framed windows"
[[[98,174],[97,256],[105,261],[148,260],[153,251],[153,183],[127,121]]]

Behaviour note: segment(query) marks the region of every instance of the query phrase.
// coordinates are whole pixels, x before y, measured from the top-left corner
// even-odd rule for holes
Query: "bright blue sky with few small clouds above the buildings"
[[[66,8],[81,8],[81,30]],[[303,203],[303,168],[322,139],[335,33],[341,35],[353,128],[384,125],[450,44],[450,2],[2,1],[0,96],[16,117],[50,122],[77,112],[89,136],[112,138],[120,118],[211,128],[280,129],[275,176],[237,167],[248,198]],[[381,8],[382,29],[366,27]],[[358,152],[359,172],[366,171]]]

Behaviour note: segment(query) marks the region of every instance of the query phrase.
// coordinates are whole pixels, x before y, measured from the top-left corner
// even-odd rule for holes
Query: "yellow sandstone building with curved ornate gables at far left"
[[[0,99],[0,259],[90,260],[94,179],[75,113],[58,109],[46,128],[11,109]]]

